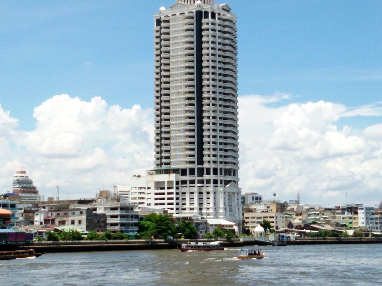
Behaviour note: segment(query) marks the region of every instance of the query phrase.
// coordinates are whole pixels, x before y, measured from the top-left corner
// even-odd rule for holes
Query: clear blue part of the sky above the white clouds
[[[152,106],[152,15],[173,3],[2,1],[2,107],[30,130],[33,108],[55,94]],[[380,1],[227,3],[238,16],[239,95],[380,100]]]

